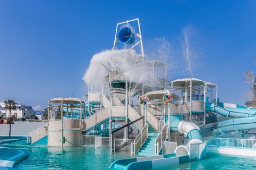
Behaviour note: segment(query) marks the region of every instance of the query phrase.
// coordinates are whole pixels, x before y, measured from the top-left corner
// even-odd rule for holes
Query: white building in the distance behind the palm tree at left
[[[25,105],[15,105],[16,110],[12,111],[12,115],[15,116],[15,118],[30,118],[31,114],[34,114],[34,110],[31,106],[25,106]],[[10,117],[9,111],[5,109],[4,102],[0,102],[0,115],[3,117]]]

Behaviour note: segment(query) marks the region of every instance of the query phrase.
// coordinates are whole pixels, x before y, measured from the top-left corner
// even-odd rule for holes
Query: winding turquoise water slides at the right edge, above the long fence
[[[213,129],[213,133],[228,133],[233,131],[244,131],[256,129],[256,109],[241,107],[220,107],[213,103],[206,103],[206,111],[215,112],[225,117],[235,117],[234,119],[219,122],[218,126]]]

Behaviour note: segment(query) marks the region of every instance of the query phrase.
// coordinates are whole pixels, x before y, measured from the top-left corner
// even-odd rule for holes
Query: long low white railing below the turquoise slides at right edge
[[[251,148],[256,150],[256,139],[238,138],[203,138],[207,141],[207,146],[229,147],[229,148]]]

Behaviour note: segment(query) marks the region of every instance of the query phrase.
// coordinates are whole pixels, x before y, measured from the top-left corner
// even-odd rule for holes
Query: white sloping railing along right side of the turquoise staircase
[[[155,155],[159,154],[159,151],[162,148],[163,142],[167,139],[168,134],[168,126],[167,124],[164,125],[161,132],[158,134],[156,140],[155,140]]]

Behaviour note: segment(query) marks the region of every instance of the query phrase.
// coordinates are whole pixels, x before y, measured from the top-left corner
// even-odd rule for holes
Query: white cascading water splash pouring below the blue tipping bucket
[[[99,88],[103,79],[109,74],[111,65],[111,71],[122,73],[124,79],[138,83],[145,82],[148,76],[142,60],[143,58],[137,55],[134,50],[106,50],[100,52],[92,57],[83,80],[85,83]]]

